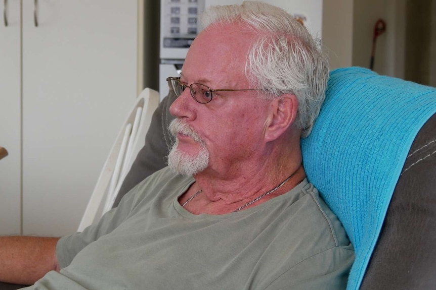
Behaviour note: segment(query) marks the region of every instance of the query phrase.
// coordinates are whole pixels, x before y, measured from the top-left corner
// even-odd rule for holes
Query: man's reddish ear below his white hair
[[[298,99],[292,94],[283,94],[271,102],[269,118],[266,124],[265,139],[273,141],[285,134],[297,116]]]

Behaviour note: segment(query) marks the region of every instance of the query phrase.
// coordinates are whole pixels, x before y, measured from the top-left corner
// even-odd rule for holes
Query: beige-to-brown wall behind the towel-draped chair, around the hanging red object
[[[324,0],[323,46],[330,67],[369,68],[374,26],[374,71],[436,86],[436,0]]]

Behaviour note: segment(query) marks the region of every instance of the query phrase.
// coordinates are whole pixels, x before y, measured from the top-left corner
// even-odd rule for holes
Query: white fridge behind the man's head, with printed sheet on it
[[[167,77],[179,76],[188,48],[198,34],[196,18],[214,5],[241,4],[243,0],[161,0],[160,99],[168,93]],[[322,0],[264,0],[297,17],[312,35],[321,38]]]

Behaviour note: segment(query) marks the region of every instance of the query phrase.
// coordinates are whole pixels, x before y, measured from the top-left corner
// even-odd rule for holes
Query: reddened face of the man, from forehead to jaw
[[[203,31],[189,49],[181,81],[188,86],[201,83],[211,89],[258,89],[250,87],[245,77],[252,37],[237,25]],[[170,112],[178,122],[188,125],[198,139],[176,130],[178,142],[172,152],[177,150],[179,155],[189,157],[185,159],[207,156],[207,162],[196,171],[211,170],[220,175],[231,175],[241,166],[255,162],[256,154],[265,145],[263,133],[269,108],[269,102],[259,100],[257,93],[213,92],[212,101],[201,104],[187,88],[171,105]],[[174,160],[175,154],[170,154],[169,163],[171,158]]]

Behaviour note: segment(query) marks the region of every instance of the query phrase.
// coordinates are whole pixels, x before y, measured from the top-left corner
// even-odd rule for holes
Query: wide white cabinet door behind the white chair
[[[22,4],[23,234],[70,234],[137,96],[137,0]]]

